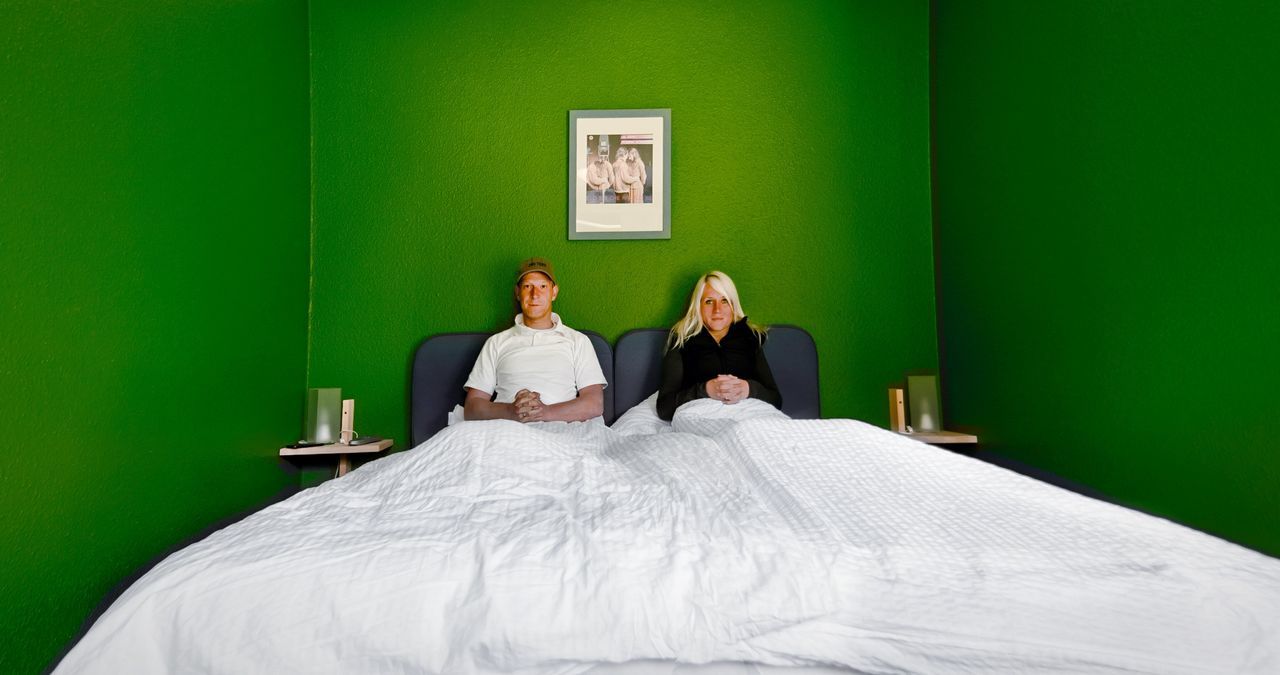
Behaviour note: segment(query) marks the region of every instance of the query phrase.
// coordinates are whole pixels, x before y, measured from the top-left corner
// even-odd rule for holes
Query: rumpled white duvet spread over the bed
[[[755,401],[466,423],[129,588],[56,674],[1280,672],[1280,561]]]

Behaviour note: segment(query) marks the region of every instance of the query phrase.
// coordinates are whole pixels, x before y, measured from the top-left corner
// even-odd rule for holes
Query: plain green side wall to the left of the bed
[[[5,4],[0,672],[296,482],[306,40],[302,1]]]

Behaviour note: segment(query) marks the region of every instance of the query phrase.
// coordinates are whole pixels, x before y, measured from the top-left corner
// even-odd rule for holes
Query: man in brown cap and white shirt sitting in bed
[[[520,315],[480,350],[465,386],[465,419],[581,421],[604,414],[600,362],[591,339],[552,311],[558,295],[550,263],[530,257],[520,265]]]

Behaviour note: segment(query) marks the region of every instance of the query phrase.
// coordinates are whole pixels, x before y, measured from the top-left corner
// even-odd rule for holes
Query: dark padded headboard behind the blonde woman
[[[663,328],[637,328],[618,338],[614,352],[613,405],[618,415],[658,391],[662,355],[667,345]],[[764,357],[782,393],[782,411],[796,419],[822,416],[818,392],[818,347],[813,336],[795,325],[769,328]]]

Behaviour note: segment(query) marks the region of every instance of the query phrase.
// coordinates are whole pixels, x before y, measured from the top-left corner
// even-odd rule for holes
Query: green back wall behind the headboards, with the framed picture
[[[312,3],[308,382],[355,397],[358,432],[403,447],[413,348],[509,325],[529,255],[556,263],[564,320],[611,341],[669,325],[723,269],[754,319],[814,334],[829,416],[884,423],[883,387],[937,365],[928,4],[618,18]],[[616,108],[672,109],[669,241],[566,238],[568,110]]]

